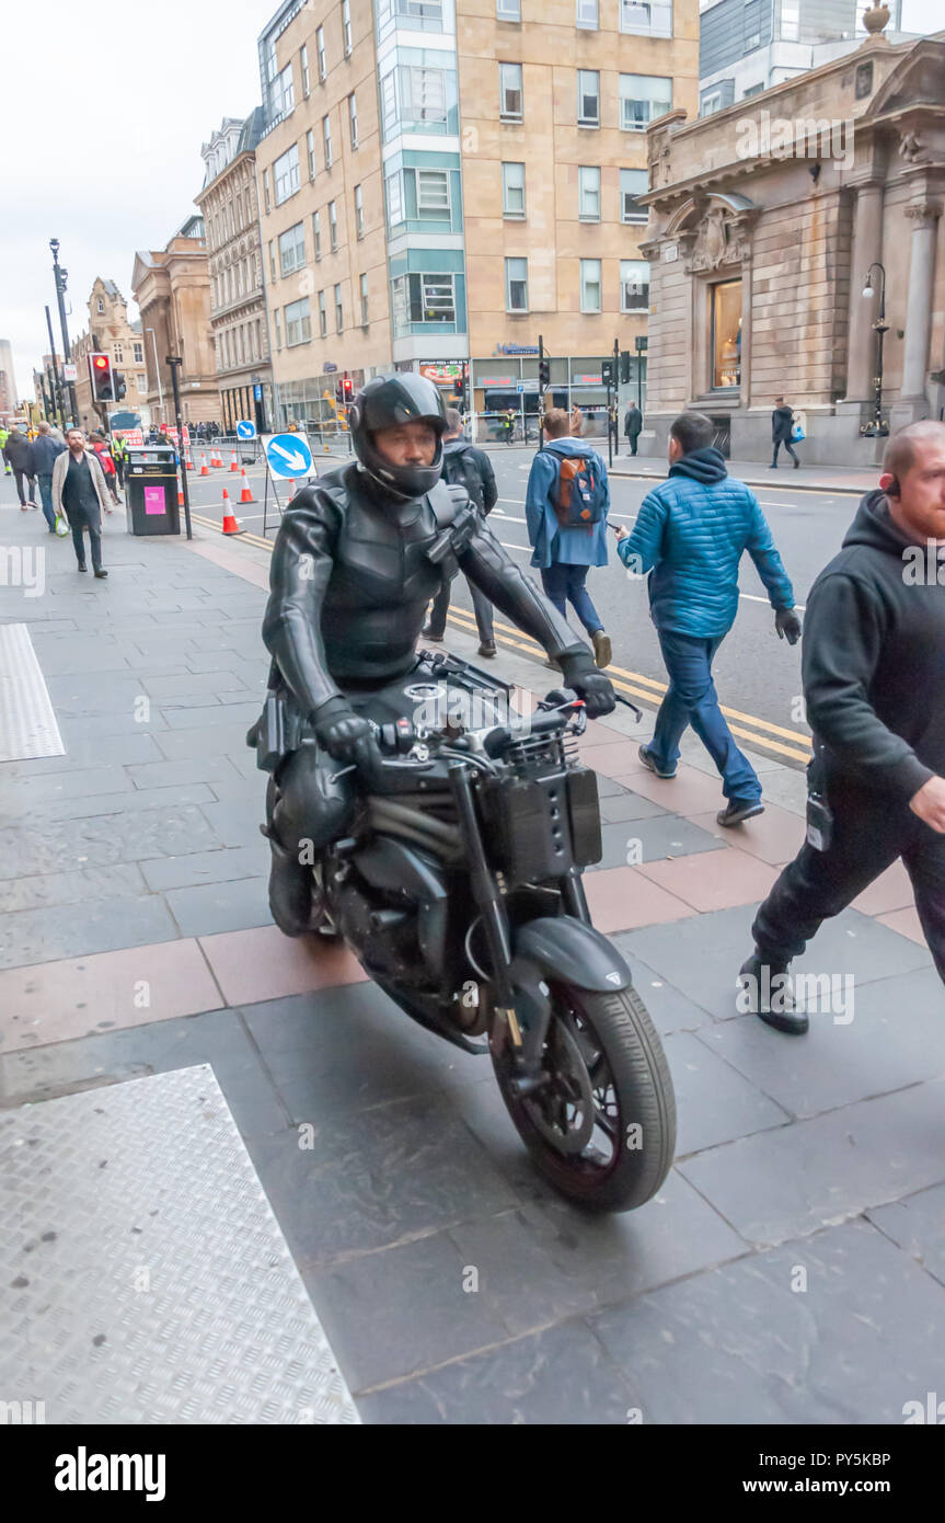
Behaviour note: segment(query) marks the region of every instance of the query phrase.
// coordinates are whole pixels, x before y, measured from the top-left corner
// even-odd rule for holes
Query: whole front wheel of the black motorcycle
[[[676,1151],[676,1095],[662,1043],[635,988],[549,988],[545,1083],[520,1097],[511,1043],[490,1051],[502,1100],[537,1168],[569,1200],[633,1211],[663,1183]]]

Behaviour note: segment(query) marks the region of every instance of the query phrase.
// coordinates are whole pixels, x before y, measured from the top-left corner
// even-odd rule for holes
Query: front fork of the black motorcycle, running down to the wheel
[[[482,845],[470,768],[464,762],[453,762],[449,783],[466,845],[473,897],[482,915],[492,964],[495,1019],[502,1023],[501,1031],[492,1031],[490,1036],[493,1040],[498,1037],[499,1045],[511,1048],[511,1087],[519,1095],[528,1095],[548,1081],[548,1074],[542,1069],[542,1052],[551,1022],[551,999],[546,987],[542,987],[539,969],[513,956],[508,914]],[[562,892],[568,912],[589,923],[587,900],[577,873],[566,876]],[[525,1017],[525,1030],[519,1023],[516,1002]]]

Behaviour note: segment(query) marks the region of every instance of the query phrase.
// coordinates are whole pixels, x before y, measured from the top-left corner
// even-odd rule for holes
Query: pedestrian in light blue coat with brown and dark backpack
[[[612,646],[587,592],[590,567],[607,565],[607,466],[580,440],[581,410],[552,407],[545,413],[545,439],[531,461],[525,490],[525,521],[533,547],[531,565],[558,614],[568,603],[590,635],[598,667],[610,666]],[[554,667],[554,661],[545,666]]]

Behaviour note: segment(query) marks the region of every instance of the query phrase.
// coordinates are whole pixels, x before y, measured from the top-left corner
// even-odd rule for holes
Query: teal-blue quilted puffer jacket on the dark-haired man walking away
[[[657,629],[711,640],[738,612],[738,562],[749,551],[772,608],[793,608],[794,589],[755,493],[729,477],[718,449],[694,449],[648,492],[633,533],[618,544],[624,565],[650,571]]]

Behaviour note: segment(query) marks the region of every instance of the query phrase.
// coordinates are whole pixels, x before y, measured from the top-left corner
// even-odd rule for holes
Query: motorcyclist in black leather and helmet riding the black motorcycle
[[[461,568],[554,656],[587,714],[615,707],[584,641],[505,553],[466,489],[440,481],[446,414],[435,385],[408,372],[379,376],[352,404],[350,428],[355,460],[303,487],[278,530],[263,620],[269,696],[247,737],[278,789],[269,906],[286,935],[310,923],[310,851],[350,819],[355,789],[339,769],[355,763],[365,775],[376,765],[371,701],[417,666],[426,605],[443,579],[429,551],[444,533],[447,570]]]

